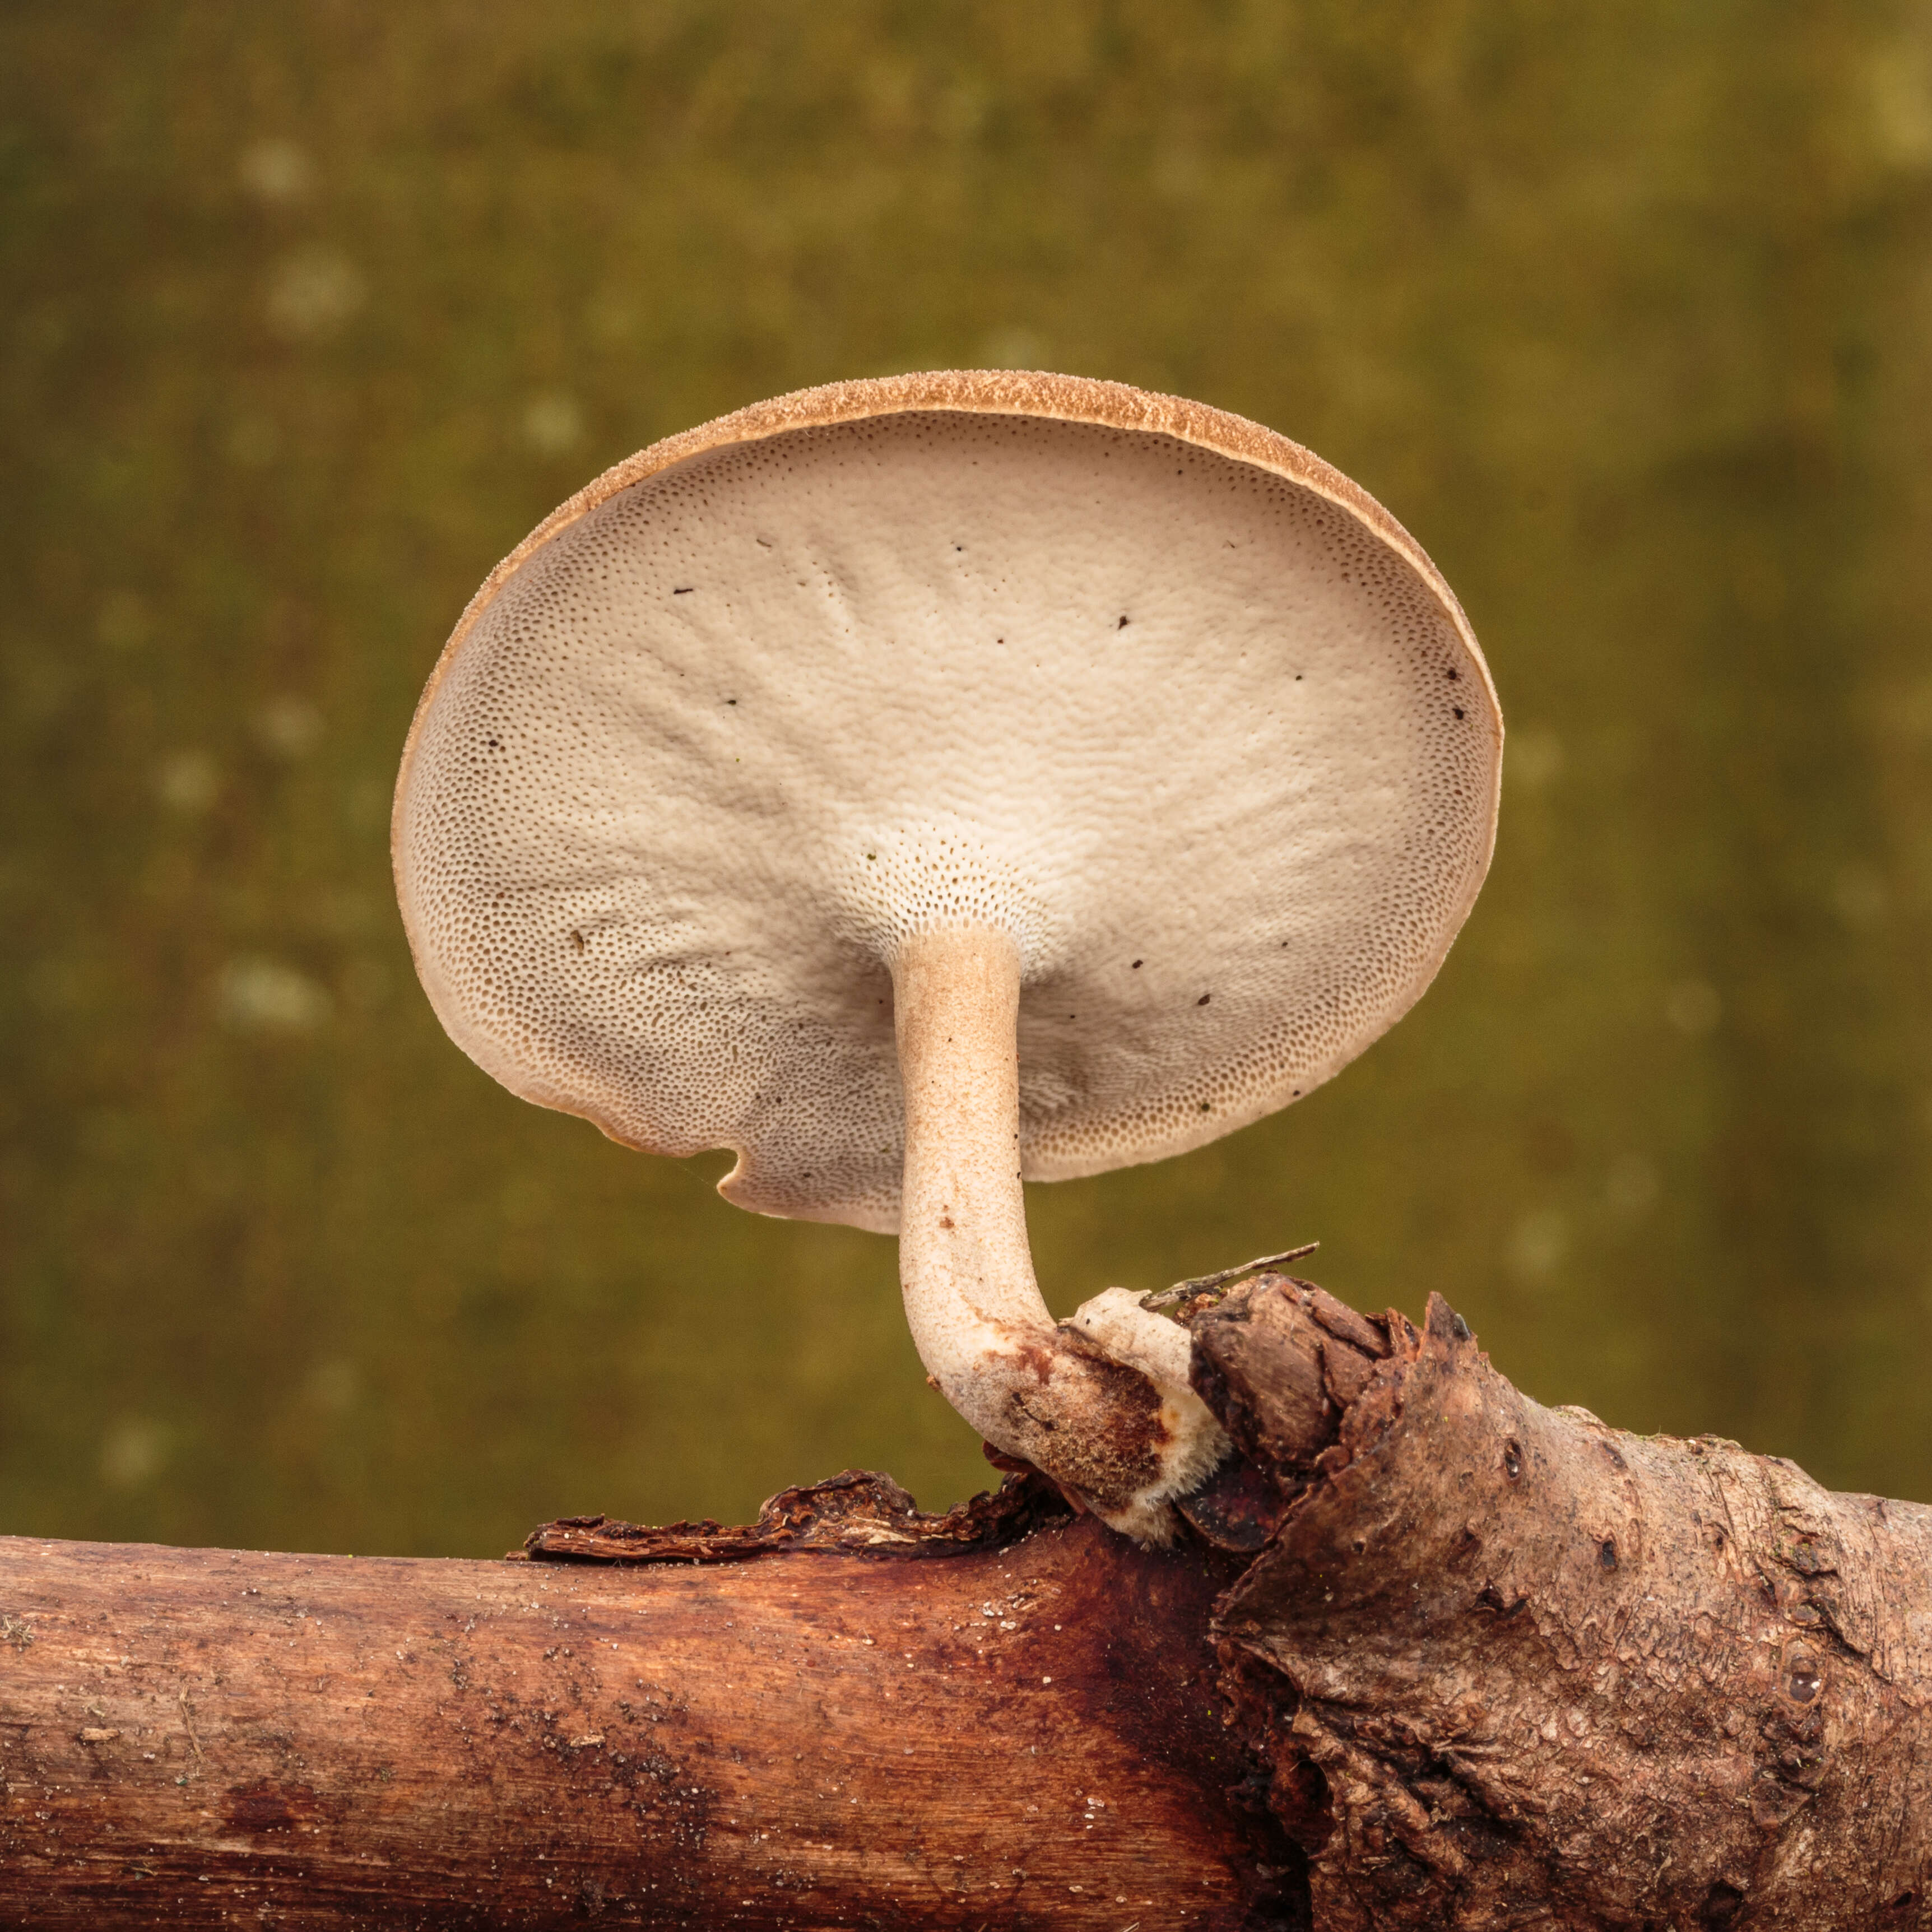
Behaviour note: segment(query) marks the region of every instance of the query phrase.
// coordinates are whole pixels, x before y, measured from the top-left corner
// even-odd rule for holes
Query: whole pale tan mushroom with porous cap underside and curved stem
[[[394,811],[417,972],[514,1094],[898,1233],[952,1406],[1159,1542],[1225,1437],[1124,1289],[1055,1323],[1022,1179],[1312,1092],[1441,964],[1501,717],[1420,545],[1308,450],[937,373],[601,475],[471,599]]]

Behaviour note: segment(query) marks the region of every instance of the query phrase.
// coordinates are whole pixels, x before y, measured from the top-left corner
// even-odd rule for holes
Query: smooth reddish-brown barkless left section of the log
[[[1306,1922],[1225,1795],[1233,1569],[1024,1492],[923,1538],[840,1478],[781,1555],[624,1567],[0,1540],[0,1924]]]

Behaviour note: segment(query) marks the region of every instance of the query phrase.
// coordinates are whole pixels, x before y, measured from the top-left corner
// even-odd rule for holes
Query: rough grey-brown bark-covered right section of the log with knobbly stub
[[[1318,1296],[1194,1320],[1293,1497],[1215,1629],[1316,1926],[1932,1924],[1932,1511],[1544,1408],[1439,1296]]]

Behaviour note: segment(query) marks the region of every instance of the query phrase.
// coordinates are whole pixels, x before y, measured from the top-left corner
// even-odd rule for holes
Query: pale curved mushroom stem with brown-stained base
[[[947,1401],[1138,1542],[1227,1449],[1188,1387],[1188,1339],[1124,1289],[1055,1323],[1020,1190],[1020,952],[997,927],[908,937],[893,960],[906,1175],[898,1277]]]

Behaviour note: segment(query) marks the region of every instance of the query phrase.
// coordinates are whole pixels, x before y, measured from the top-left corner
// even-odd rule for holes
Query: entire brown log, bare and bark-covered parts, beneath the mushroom
[[[1932,1511],[1264,1277],[1144,1551],[1034,1474],[533,1561],[0,1540],[0,1922],[1932,1926]]]

